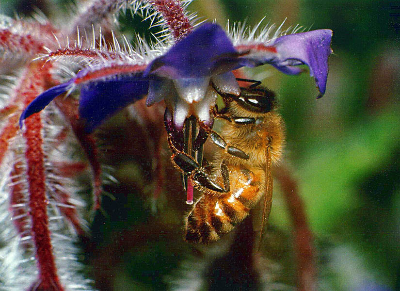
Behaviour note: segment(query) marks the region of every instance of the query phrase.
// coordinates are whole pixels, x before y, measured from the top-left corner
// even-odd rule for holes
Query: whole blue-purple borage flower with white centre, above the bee
[[[298,74],[307,65],[320,91],[325,93],[332,31],[281,33],[270,38],[236,38],[217,24],[205,23],[177,41],[164,54],[124,63],[83,68],[69,81],[40,94],[22,113],[20,122],[44,109],[64,92],[80,87],[80,118],[88,132],[119,109],[147,95],[147,105],[165,100],[181,129],[186,117],[212,122],[210,109],[217,93],[240,95],[232,70],[271,64],[286,74]]]

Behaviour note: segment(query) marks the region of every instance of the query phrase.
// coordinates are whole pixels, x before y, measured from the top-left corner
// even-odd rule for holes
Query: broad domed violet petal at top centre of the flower
[[[231,70],[226,60],[236,55],[224,30],[217,24],[206,23],[155,59],[147,66],[144,76],[154,73],[169,79],[209,77],[223,65],[228,65],[225,72]]]

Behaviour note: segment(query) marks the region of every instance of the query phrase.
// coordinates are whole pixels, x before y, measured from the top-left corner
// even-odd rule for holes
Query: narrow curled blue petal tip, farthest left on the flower
[[[22,122],[24,121],[24,119],[28,118],[33,113],[38,113],[42,111],[55,97],[71,89],[74,86],[73,82],[74,79],[71,79],[63,84],[51,87],[50,89],[46,90],[45,92],[34,98],[19,117],[19,127],[22,128]]]

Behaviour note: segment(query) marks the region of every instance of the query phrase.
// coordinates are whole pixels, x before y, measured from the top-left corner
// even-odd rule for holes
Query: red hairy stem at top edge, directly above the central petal
[[[151,0],[150,3],[162,14],[176,41],[192,31],[192,25],[179,0]]]

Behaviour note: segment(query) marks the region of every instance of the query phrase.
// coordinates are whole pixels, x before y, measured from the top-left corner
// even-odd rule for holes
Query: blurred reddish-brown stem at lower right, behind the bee
[[[308,226],[304,203],[287,167],[280,165],[273,171],[280,182],[293,223],[294,251],[297,258],[297,290],[316,291],[315,250],[313,235]]]

